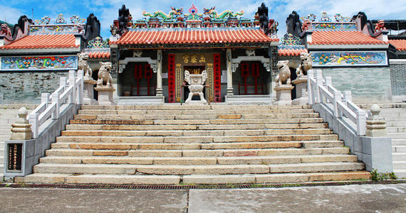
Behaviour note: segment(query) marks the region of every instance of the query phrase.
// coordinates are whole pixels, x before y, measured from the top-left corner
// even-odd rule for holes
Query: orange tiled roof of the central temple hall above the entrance
[[[110,44],[270,43],[259,28],[156,28],[127,31]]]

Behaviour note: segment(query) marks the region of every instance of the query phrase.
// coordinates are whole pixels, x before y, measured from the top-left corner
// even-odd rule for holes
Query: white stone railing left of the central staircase
[[[52,94],[41,94],[41,104],[28,114],[28,121],[31,124],[33,138],[38,138],[43,124],[49,119],[58,119],[60,112],[66,104],[83,103],[83,70],[76,72],[69,71],[68,79],[61,77],[59,87]]]

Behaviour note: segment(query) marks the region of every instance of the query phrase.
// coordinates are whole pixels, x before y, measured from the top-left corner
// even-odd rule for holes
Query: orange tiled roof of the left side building
[[[0,49],[53,49],[53,48],[78,48],[73,34],[63,35],[27,35]]]

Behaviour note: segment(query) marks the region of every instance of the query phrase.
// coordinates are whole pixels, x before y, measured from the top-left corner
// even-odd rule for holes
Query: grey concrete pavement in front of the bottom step
[[[0,212],[405,212],[406,184],[227,190],[0,188]]]

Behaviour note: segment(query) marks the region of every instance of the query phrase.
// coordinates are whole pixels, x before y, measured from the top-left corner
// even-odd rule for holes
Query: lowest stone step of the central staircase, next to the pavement
[[[228,184],[228,183],[282,183],[369,179],[366,171],[336,173],[285,173],[256,175],[66,175],[36,173],[16,177],[16,182],[71,183],[71,184]]]

